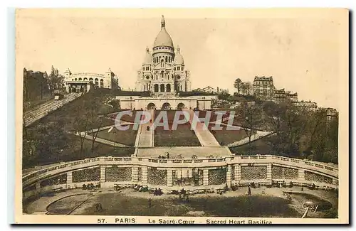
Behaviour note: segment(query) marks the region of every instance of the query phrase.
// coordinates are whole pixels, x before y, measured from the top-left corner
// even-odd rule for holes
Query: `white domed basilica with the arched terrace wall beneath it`
[[[210,109],[216,95],[191,94],[190,72],[185,68],[179,45],[174,48],[164,16],[152,52],[146,48],[142,69],[137,73],[135,92],[117,96],[122,109]],[[132,92],[134,93],[134,92]]]

